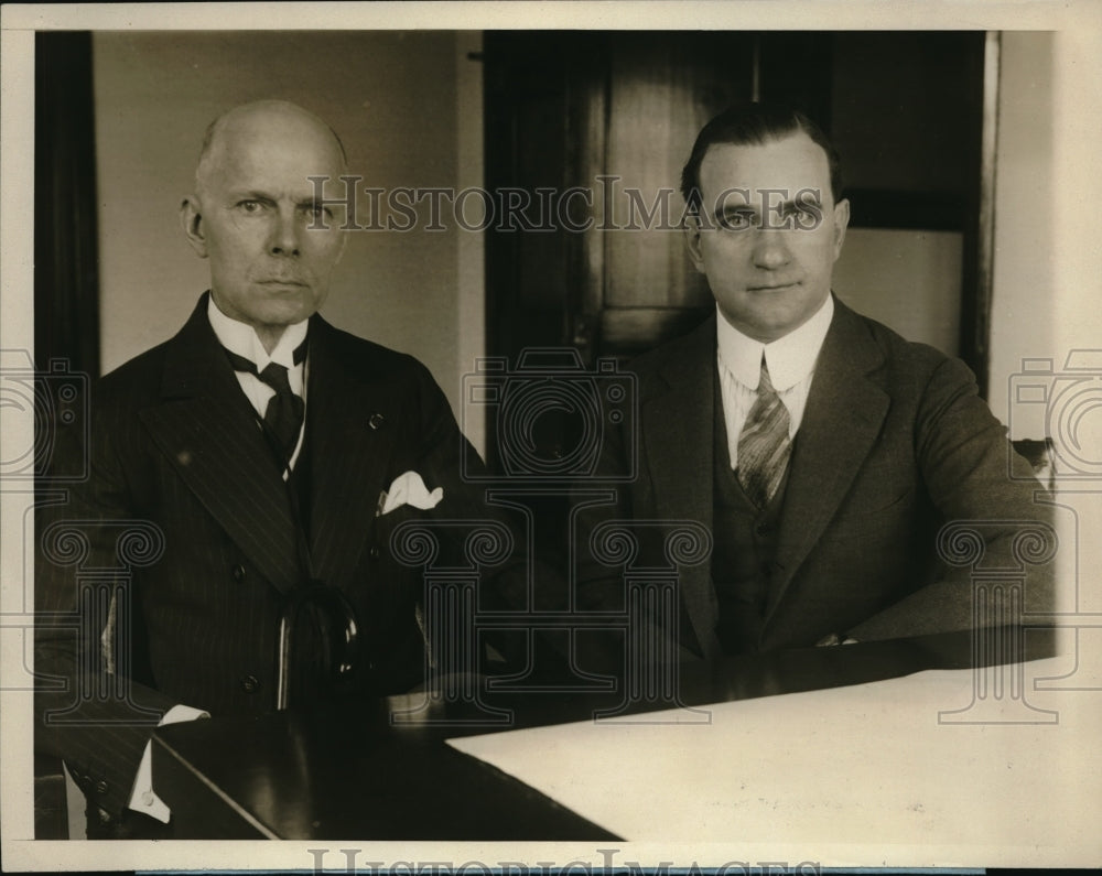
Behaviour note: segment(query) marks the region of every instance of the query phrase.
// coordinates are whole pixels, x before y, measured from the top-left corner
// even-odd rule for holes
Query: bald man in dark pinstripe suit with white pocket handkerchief
[[[36,747],[65,758],[94,830],[116,825],[102,835],[128,835],[134,810],[169,818],[139,771],[158,723],[274,707],[281,613],[309,588],[333,610],[300,616],[292,705],[346,660],[364,695],[422,680],[421,576],[390,534],[477,517],[460,480],[461,454],[477,457],[420,363],[316,313],[345,237],[309,177],[344,171],[334,132],[294,105],[210,126],[180,212],[209,290],[175,337],[102,378],[91,477],[40,522],[36,608],[58,620],[36,669],[64,685],[36,696]],[[339,653],[349,617],[359,650]]]

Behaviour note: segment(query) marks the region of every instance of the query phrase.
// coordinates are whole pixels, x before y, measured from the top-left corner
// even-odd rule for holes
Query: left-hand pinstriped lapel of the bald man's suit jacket
[[[140,417],[181,479],[281,591],[302,576],[287,488],[199,299],[165,348],[161,402]]]

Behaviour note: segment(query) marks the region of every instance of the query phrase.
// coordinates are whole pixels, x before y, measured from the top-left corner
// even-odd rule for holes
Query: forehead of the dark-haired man
[[[827,153],[803,131],[764,143],[714,143],[700,165],[704,191],[736,188],[752,199],[778,190],[830,191]]]

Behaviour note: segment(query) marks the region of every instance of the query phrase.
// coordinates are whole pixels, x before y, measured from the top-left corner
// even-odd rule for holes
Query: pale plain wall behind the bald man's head
[[[104,370],[174,334],[208,285],[176,208],[212,119],[285,98],[333,126],[363,185],[479,185],[482,71],[466,57],[479,43],[454,31],[97,32]],[[457,411],[482,355],[484,283],[480,241],[449,226],[353,232],[322,312],[420,358]]]

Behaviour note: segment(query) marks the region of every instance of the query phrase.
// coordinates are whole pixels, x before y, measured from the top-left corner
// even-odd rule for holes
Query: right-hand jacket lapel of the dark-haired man
[[[861,321],[835,299],[792,448],[777,542],[778,577],[766,623],[822,537],[880,433],[888,394],[871,378],[884,357]]]

